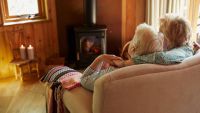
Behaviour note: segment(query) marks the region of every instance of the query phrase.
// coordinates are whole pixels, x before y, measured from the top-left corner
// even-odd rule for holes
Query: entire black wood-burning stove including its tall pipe
[[[84,0],[85,24],[74,27],[76,66],[82,68],[88,66],[98,55],[106,53],[106,26],[96,25],[96,0]],[[70,39],[73,40],[73,39]],[[73,44],[68,44],[69,46]],[[75,49],[74,49],[75,48]],[[73,53],[73,52],[72,52]],[[69,58],[73,54],[69,54]]]

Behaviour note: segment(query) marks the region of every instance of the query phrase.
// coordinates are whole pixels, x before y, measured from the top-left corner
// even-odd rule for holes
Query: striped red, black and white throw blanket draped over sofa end
[[[47,113],[65,113],[62,102],[64,90],[71,90],[80,86],[82,73],[67,66],[56,66],[50,69],[41,81],[48,84],[46,92]]]

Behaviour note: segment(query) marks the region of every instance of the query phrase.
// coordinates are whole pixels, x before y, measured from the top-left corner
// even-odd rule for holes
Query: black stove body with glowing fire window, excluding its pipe
[[[86,67],[100,54],[106,53],[106,26],[75,28],[76,60],[78,67]]]

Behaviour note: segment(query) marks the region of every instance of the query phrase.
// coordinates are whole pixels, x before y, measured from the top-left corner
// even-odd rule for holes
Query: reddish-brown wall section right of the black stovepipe
[[[107,26],[107,51],[118,55],[122,39],[122,0],[97,0],[97,24]]]

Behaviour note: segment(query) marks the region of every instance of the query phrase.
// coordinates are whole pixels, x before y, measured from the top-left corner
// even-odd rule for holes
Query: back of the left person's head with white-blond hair
[[[129,55],[133,57],[162,50],[163,39],[158,37],[158,32],[145,23],[138,25],[128,48]]]

